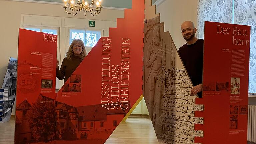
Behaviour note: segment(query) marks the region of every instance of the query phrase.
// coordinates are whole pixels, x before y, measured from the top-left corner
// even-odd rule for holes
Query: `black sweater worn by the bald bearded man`
[[[181,60],[185,65],[185,68],[194,86],[202,83],[203,50],[203,39],[198,39],[196,43],[191,45],[184,44],[179,49]],[[199,92],[198,96],[202,97],[202,92]]]

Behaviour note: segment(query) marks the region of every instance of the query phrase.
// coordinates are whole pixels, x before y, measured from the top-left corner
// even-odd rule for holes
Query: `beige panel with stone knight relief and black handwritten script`
[[[145,0],[144,22],[144,98],[160,143],[194,143],[194,137],[203,137],[194,130],[195,105],[190,89],[193,87],[169,32],[164,32],[160,15],[155,15],[151,0]]]

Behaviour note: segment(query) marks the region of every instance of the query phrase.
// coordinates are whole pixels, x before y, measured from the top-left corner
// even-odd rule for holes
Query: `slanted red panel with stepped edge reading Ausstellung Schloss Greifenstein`
[[[142,95],[143,28],[144,1],[133,0],[132,9],[117,19],[117,28],[101,37],[59,90],[59,135],[73,131],[79,139],[74,143],[79,144],[103,144],[108,139]],[[75,140],[72,135],[56,142],[69,144],[62,140]]]

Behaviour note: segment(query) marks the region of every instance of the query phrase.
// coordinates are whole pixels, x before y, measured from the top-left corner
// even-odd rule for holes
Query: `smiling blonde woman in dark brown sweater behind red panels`
[[[60,69],[59,61],[57,60],[56,77],[59,80],[64,78],[65,83],[86,55],[83,41],[80,39],[74,39],[68,48],[67,57],[63,59]]]

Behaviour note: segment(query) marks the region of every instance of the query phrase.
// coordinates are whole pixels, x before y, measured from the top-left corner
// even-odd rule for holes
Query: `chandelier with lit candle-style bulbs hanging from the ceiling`
[[[67,6],[67,3],[69,4],[69,7]],[[96,4],[96,6],[95,6]],[[92,0],[92,2],[90,4],[86,2],[84,2],[84,0],[82,0],[82,2],[80,0],[78,0],[78,2],[76,3],[76,5],[74,6],[74,1],[73,0],[64,0],[64,7],[66,13],[68,14],[73,14],[76,15],[78,11],[84,11],[84,15],[87,15],[87,12],[89,11],[93,16],[97,16],[97,14],[100,13],[101,8],[103,8],[103,6],[101,6],[101,0],[97,1],[96,3],[94,2],[94,0]],[[69,8],[71,11],[67,12],[67,8]],[[96,9],[95,9],[96,8]]]

